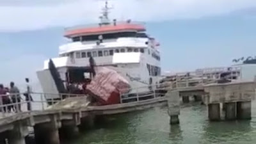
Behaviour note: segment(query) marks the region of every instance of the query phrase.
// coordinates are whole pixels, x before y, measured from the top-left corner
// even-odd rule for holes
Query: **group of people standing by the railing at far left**
[[[28,111],[31,110],[31,97],[32,89],[29,85],[29,79],[26,78],[26,92],[23,93],[25,101],[27,103]],[[0,84],[0,112],[19,112],[21,111],[21,101],[22,97],[20,96],[20,90],[15,86],[15,83],[10,83],[10,88],[4,87],[3,84]]]

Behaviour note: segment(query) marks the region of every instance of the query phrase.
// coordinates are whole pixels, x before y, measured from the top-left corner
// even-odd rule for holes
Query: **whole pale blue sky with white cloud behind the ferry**
[[[99,22],[102,0],[2,0],[0,83],[38,83],[36,70],[58,56],[64,28]],[[255,0],[112,0],[112,19],[145,22],[161,44],[162,71],[232,65],[255,56]]]

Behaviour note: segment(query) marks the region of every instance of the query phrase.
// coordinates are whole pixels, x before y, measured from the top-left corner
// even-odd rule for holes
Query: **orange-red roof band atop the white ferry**
[[[65,31],[64,36],[73,37],[79,35],[96,35],[99,33],[109,33],[115,31],[145,31],[145,27],[141,24],[109,24],[106,26],[97,26],[92,28],[76,28],[76,29],[68,29]]]

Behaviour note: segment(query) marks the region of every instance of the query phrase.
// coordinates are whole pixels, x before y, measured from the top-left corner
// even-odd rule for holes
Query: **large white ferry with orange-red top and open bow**
[[[97,67],[111,68],[123,76],[131,85],[129,93],[150,92],[152,85],[159,83],[159,43],[147,34],[143,23],[110,20],[109,9],[106,1],[99,24],[65,29],[64,36],[71,42],[60,45],[59,56],[51,59],[61,81],[54,78],[50,60],[45,60],[44,68],[37,72],[44,93],[61,93],[68,83],[92,78],[91,57]],[[59,98],[50,94],[45,97]]]

